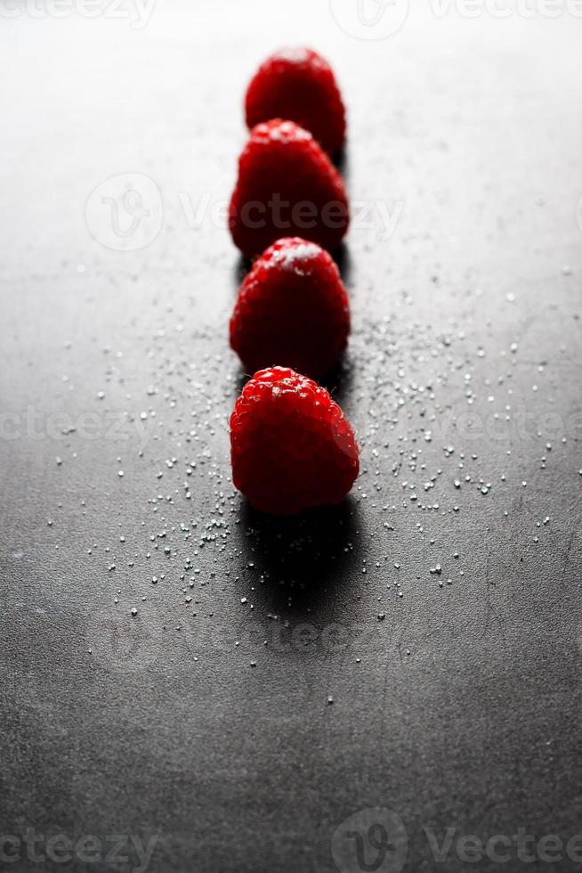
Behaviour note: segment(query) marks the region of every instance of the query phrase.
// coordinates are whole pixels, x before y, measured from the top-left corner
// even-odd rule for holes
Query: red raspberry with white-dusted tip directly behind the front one
[[[327,251],[298,237],[255,261],[230,319],[230,346],[249,372],[278,361],[317,379],[338,363],[350,306]]]

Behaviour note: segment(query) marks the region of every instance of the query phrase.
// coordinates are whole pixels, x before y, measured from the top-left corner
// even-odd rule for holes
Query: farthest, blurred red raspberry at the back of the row
[[[247,89],[249,128],[271,118],[288,118],[309,130],[327,154],[345,141],[345,108],[334,72],[317,52],[287,48],[271,54]]]

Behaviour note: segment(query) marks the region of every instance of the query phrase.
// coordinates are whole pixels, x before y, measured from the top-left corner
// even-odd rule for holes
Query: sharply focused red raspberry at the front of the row
[[[230,416],[234,485],[273,515],[341,502],[360,470],[353,428],[325,388],[286,367],[255,373]]]

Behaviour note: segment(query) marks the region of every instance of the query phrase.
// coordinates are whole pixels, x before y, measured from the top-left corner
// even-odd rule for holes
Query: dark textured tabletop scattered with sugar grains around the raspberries
[[[366,42],[303,0],[3,20],[3,835],[304,873],[386,807],[405,869],[453,873],[499,864],[455,841],[439,864],[425,828],[582,830],[581,27],[415,10]],[[331,385],[362,474],[280,523],[230,484],[240,263],[216,212],[245,83],[286,43],[334,64],[375,218],[347,238]],[[163,221],[130,252],[102,244],[109,188],[85,217],[126,173],[163,205],[143,189]],[[5,867],[137,864],[42,857]]]

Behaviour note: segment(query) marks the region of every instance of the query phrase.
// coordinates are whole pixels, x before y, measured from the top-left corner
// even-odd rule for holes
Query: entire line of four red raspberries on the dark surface
[[[332,69],[309,49],[271,55],[247,89],[250,139],[229,209],[255,258],[230,319],[247,382],[230,417],[234,485],[256,509],[291,515],[344,499],[360,469],[352,425],[320,379],[350,333],[334,259],[349,224],[345,110]],[[258,257],[257,257],[258,256]]]

